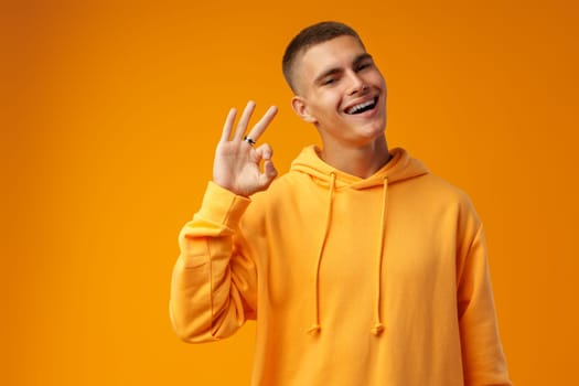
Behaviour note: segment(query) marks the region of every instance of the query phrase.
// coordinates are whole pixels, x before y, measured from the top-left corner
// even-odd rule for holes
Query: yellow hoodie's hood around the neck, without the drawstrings
[[[383,185],[384,180],[388,184],[412,179],[429,173],[429,170],[417,159],[401,148],[390,149],[392,159],[376,173],[367,179],[362,179],[340,171],[325,163],[319,156],[319,149],[315,146],[304,148],[298,158],[291,163],[291,171],[309,174],[312,180],[321,185],[330,185],[332,179],[335,179],[335,189],[352,187],[367,189]]]

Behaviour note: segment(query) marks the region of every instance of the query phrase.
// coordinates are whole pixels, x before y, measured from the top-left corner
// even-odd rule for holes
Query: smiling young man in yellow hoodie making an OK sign
[[[271,148],[254,146],[276,108],[250,130],[253,103],[235,129],[229,112],[180,236],[176,333],[213,341],[256,319],[253,385],[511,385],[482,224],[464,193],[388,149],[386,84],[356,32],[307,28],[283,73],[323,149],[274,182]]]

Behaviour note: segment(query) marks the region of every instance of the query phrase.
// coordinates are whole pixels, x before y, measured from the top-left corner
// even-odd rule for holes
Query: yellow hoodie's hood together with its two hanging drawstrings
[[[291,171],[308,174],[314,183],[322,186],[328,186],[328,203],[325,226],[320,243],[319,253],[315,259],[315,268],[313,272],[313,321],[308,329],[308,333],[315,335],[322,330],[320,315],[320,266],[323,258],[325,244],[330,233],[330,225],[332,223],[332,208],[334,202],[334,193],[341,189],[371,189],[378,187],[383,190],[382,194],[382,211],[379,223],[379,237],[376,240],[376,270],[375,270],[375,309],[374,309],[374,325],[369,329],[373,335],[379,336],[386,329],[382,323],[380,302],[382,302],[382,266],[384,259],[384,239],[386,234],[386,218],[388,210],[388,185],[403,182],[412,178],[427,174],[428,169],[417,159],[414,159],[409,153],[401,149],[395,148],[390,150],[392,158],[382,169],[367,179],[361,179],[340,171],[319,157],[319,149],[314,146],[307,147],[298,156],[291,164]]]

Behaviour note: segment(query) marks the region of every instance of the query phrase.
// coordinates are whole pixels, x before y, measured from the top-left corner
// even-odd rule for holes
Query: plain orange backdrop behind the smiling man
[[[318,142],[280,57],[330,19],[385,74],[389,144],[473,199],[513,379],[577,384],[575,2],[103,3],[2,6],[1,384],[248,384],[254,323],[172,333],[176,237],[230,106],[280,107],[280,171]]]

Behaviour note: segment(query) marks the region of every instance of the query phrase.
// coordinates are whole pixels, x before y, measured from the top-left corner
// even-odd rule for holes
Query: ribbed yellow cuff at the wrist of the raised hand
[[[210,181],[197,215],[214,224],[235,228],[250,202],[251,200],[236,195]]]

